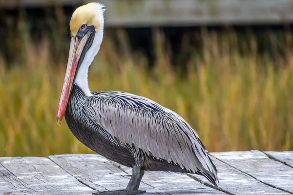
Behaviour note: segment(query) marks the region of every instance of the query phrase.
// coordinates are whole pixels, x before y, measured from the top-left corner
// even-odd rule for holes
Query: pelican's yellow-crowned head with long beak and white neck
[[[86,96],[91,96],[88,88],[88,68],[97,55],[103,40],[104,5],[88,3],[77,8],[70,20],[70,49],[67,69],[57,108],[57,124],[61,124],[73,83]]]

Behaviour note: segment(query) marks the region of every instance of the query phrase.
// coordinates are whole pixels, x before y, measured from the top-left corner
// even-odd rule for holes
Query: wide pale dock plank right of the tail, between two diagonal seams
[[[293,194],[293,169],[270,159],[260,151],[222,152],[210,155],[267,185]]]

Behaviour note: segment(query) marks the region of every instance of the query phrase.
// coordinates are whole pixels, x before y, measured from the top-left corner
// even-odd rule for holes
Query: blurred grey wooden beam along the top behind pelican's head
[[[0,0],[0,7],[81,5],[92,0]],[[190,26],[293,22],[292,0],[98,0],[106,26]]]

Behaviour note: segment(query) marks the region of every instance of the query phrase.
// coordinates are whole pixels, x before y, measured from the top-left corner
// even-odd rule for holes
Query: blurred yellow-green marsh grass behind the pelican
[[[247,47],[243,53],[235,34],[203,33],[202,50],[188,60],[182,77],[164,50],[163,34],[154,31],[156,60],[149,70],[146,57],[131,52],[120,33],[123,54],[105,35],[90,68],[92,91],[126,91],[157,101],[185,118],[210,152],[293,150],[290,36],[288,58],[276,62],[256,53],[253,36],[240,45]],[[65,120],[61,127],[55,122],[66,61],[52,59],[49,39],[29,42],[17,64],[0,56],[0,156],[92,153]]]

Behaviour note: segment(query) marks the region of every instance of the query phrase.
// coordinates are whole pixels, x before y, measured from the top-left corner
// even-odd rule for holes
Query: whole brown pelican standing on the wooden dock
[[[88,3],[70,20],[71,43],[57,123],[65,116],[73,135],[109,160],[132,167],[126,190],[104,194],[143,194],[147,171],[191,173],[218,182],[217,169],[190,125],[175,112],[125,92],[91,93],[88,68],[103,39],[104,5]],[[99,194],[103,194],[100,192]]]

